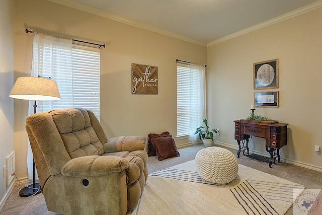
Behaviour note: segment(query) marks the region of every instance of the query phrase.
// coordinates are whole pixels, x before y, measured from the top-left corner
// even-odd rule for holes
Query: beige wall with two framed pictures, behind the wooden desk
[[[220,142],[236,147],[233,120],[247,118],[254,102],[253,63],[278,58],[280,107],[256,115],[288,123],[281,157],[322,171],[322,8],[208,47],[208,118],[220,128]],[[268,154],[265,140],[250,149]]]

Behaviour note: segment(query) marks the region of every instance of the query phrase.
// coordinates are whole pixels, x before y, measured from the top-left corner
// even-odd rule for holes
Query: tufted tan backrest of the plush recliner
[[[26,119],[39,182],[60,174],[70,159],[102,155],[107,137],[92,111],[82,108],[51,110]]]

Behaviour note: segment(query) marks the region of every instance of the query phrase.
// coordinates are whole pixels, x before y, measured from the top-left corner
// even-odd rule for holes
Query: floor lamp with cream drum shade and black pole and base
[[[44,77],[20,77],[12,88],[9,97],[23,100],[34,100],[34,113],[36,113],[36,101],[59,100],[60,94],[57,83]],[[28,197],[40,193],[39,183],[36,183],[36,166],[33,162],[33,184],[19,191],[21,197]]]

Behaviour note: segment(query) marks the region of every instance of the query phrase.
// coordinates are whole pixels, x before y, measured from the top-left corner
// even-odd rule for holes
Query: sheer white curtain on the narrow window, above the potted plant
[[[205,66],[190,63],[190,133],[189,140],[195,144],[199,139],[195,134],[206,118],[206,78]]]

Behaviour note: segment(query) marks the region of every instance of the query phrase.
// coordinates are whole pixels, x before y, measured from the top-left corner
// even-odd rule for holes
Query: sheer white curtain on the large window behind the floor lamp
[[[72,71],[72,40],[61,38],[53,35],[46,35],[39,32],[34,32],[33,38],[33,60],[31,76],[50,77],[57,82],[59,91],[70,92],[69,98],[65,96],[61,98],[67,107],[72,107],[72,77],[67,77],[64,74]],[[37,112],[48,111],[55,109],[59,102],[57,101],[37,101]],[[68,103],[68,104],[67,104]],[[34,113],[34,101],[29,102],[29,115]],[[28,139],[27,149],[27,166],[28,177],[33,178],[33,155]],[[36,178],[38,175],[36,174]]]

